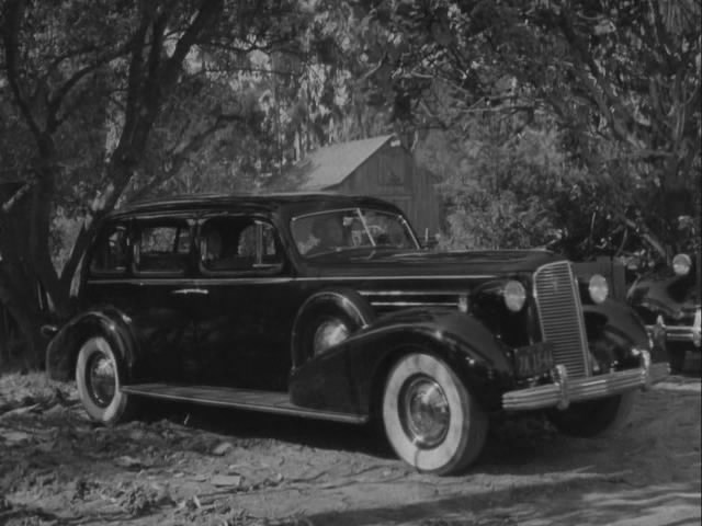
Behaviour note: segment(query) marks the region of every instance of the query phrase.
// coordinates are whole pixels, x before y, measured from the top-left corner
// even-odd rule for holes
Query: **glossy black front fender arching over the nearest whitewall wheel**
[[[414,309],[378,319],[291,376],[294,403],[369,415],[393,364],[408,352],[444,359],[487,409],[499,409],[512,381],[507,350],[476,319],[455,311]]]

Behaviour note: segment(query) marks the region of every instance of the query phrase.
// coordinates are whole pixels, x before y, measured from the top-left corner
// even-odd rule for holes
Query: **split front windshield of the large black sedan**
[[[395,227],[399,227],[400,230],[396,230],[395,235],[400,235],[403,238],[401,243],[392,243],[392,242],[381,242],[378,239],[383,235],[388,235],[387,231],[383,231],[380,233],[373,233],[373,230],[380,228],[378,225],[369,225],[369,213],[374,214],[376,216],[384,216],[392,220],[390,225]],[[335,216],[337,218],[342,219],[343,222],[349,222],[348,225],[343,224],[343,228],[348,229],[344,232],[347,236],[347,242],[341,245],[337,245],[335,248],[330,248],[328,250],[316,250],[314,253],[310,253],[313,249],[316,249],[320,244],[320,240],[312,232],[313,224],[316,219],[328,216],[330,219],[333,219]],[[347,216],[347,217],[342,217]],[[309,221],[308,225],[304,225]],[[358,221],[356,226],[362,227],[360,231],[353,231],[351,222]],[[302,232],[301,232],[301,227]],[[415,235],[409,221],[401,215],[390,210],[384,210],[374,207],[362,207],[362,206],[350,206],[343,208],[329,208],[325,210],[301,214],[298,216],[293,217],[290,220],[290,232],[293,238],[293,244],[295,249],[305,259],[316,258],[318,255],[330,254],[330,253],[339,253],[339,252],[348,252],[352,250],[420,250],[421,244]],[[302,237],[301,237],[302,236]],[[356,238],[356,242],[353,242],[353,238]],[[367,242],[363,243],[360,237],[365,237]],[[389,235],[388,235],[389,237]],[[317,244],[314,244],[316,240]],[[312,243],[312,244],[310,244]]]

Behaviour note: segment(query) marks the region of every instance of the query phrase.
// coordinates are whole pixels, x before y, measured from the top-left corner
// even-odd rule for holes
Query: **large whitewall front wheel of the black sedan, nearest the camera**
[[[419,471],[460,472],[485,444],[487,416],[443,361],[404,356],[383,393],[385,434],[397,455]]]

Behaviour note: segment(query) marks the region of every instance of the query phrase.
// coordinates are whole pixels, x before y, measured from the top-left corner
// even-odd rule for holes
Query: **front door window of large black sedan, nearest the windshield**
[[[210,272],[274,272],[283,263],[276,239],[272,225],[251,217],[208,219],[200,236],[202,267]]]

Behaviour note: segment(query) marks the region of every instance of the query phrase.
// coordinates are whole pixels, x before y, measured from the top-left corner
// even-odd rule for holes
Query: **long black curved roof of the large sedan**
[[[236,208],[248,211],[275,211],[285,209],[294,216],[306,211],[318,211],[340,207],[375,207],[388,211],[399,209],[383,199],[362,195],[346,195],[335,192],[273,193],[273,194],[199,194],[182,195],[134,203],[110,214],[123,217],[141,214],[167,214],[178,211],[208,211]]]

